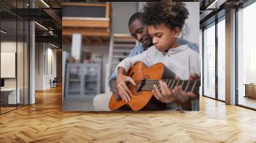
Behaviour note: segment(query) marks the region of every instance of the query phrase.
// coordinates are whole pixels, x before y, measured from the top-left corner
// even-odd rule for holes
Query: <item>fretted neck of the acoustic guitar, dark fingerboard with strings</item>
[[[177,86],[181,86],[182,89],[186,92],[198,93],[200,87],[200,80],[172,80],[172,79],[163,79],[163,82],[166,82],[169,89],[174,89]],[[154,85],[159,89],[159,80],[144,79],[141,80],[140,86],[138,87],[139,91],[152,91]]]

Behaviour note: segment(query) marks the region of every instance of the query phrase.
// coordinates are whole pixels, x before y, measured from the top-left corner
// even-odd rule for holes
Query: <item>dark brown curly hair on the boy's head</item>
[[[142,21],[146,25],[164,23],[170,29],[180,27],[182,29],[189,12],[184,3],[180,2],[148,2],[144,5]]]

